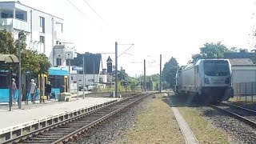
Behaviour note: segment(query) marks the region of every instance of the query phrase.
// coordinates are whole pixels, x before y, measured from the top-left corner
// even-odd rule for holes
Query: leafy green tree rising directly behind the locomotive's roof
[[[198,59],[216,59],[223,58],[224,52],[229,51],[226,46],[222,44],[222,42],[211,42],[204,44],[203,47],[200,48],[200,54],[193,54],[192,60],[193,62],[197,62]]]

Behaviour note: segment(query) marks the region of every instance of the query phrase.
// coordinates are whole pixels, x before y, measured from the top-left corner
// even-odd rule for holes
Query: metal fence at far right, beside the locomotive
[[[256,102],[256,82],[234,83],[234,100]]]

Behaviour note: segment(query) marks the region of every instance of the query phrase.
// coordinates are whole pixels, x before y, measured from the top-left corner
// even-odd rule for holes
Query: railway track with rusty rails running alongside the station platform
[[[94,126],[106,121],[107,118],[114,116],[127,106],[146,98],[151,94],[138,94],[122,101],[115,102],[110,106],[91,111],[78,117],[67,119],[64,122],[56,123],[42,130],[31,132],[3,143],[66,143],[73,141],[80,134],[88,132]],[[90,132],[89,132],[90,134]]]

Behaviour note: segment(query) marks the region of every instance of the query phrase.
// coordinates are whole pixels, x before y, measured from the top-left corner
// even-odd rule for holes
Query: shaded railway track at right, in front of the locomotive
[[[246,124],[256,128],[256,111],[249,110],[241,106],[234,106],[229,103],[219,103],[217,105],[210,105],[216,110],[220,110]]]

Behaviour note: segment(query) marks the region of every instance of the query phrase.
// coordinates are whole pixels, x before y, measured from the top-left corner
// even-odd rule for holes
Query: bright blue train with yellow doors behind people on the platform
[[[68,82],[68,70],[62,69],[59,67],[51,67],[49,70],[49,74],[40,74],[38,77],[30,77],[28,75],[22,76],[22,101],[31,100],[30,94],[28,94],[28,86],[30,83],[30,79],[34,79],[35,83],[38,86],[38,90],[36,91],[35,98],[38,100],[40,97],[45,96],[45,85],[48,81],[50,81],[53,86],[52,93],[54,93],[55,98],[57,99],[58,94],[61,92],[67,91],[67,82]],[[18,76],[17,74],[13,74],[12,78],[15,79],[17,88],[18,87]],[[10,94],[9,94],[9,72],[1,70],[0,71],[0,102],[10,102]],[[16,101],[18,100],[18,90],[15,92]]]

